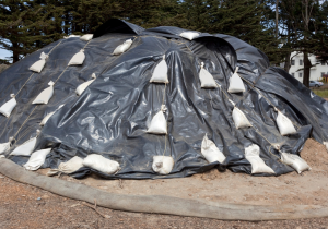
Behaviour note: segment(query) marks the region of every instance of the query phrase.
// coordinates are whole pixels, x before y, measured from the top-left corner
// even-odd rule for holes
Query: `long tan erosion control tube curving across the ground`
[[[274,220],[327,217],[328,207],[318,205],[243,205],[185,200],[165,195],[122,195],[104,192],[27,171],[9,159],[0,158],[0,173],[69,198],[116,210],[194,216],[223,220]]]

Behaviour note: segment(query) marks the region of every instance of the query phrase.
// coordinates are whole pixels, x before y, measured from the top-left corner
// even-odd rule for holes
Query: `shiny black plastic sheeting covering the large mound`
[[[251,166],[244,152],[253,144],[259,145],[260,158],[279,176],[293,169],[279,161],[280,153],[268,141],[290,154],[302,150],[309,136],[320,143],[328,141],[327,101],[313,96],[308,88],[283,70],[270,67],[261,51],[222,34],[200,33],[190,41],[179,36],[186,29],[169,26],[143,29],[125,21],[112,20],[94,33],[94,38],[84,49],[86,58],[83,64],[68,68],[70,58],[85,46],[85,41],[79,37],[63,39],[51,52],[43,71],[34,74],[16,97],[17,106],[12,114],[9,118],[0,116],[3,126],[0,143],[16,134],[16,142],[11,146],[13,150],[33,137],[45,114],[61,104],[65,106],[51,116],[37,138],[35,150],[52,148],[42,168],[55,169],[74,156],[85,158],[90,154],[101,154],[121,167],[115,174],[83,167],[71,174],[75,178],[91,172],[107,179],[179,178],[218,166],[220,170],[227,168],[250,174]],[[113,50],[129,38],[133,38],[129,50],[113,56]],[[0,104],[4,104],[9,95],[15,94],[30,77],[28,68],[39,59],[40,52],[48,53],[58,43],[30,55],[1,73]],[[149,82],[163,55],[168,65],[166,91],[163,84]],[[220,87],[201,88],[200,62],[204,62]],[[246,91],[229,97],[254,125],[241,130],[234,125],[234,107],[224,95],[236,67],[239,67],[238,74]],[[47,83],[56,81],[61,73],[49,103],[37,107],[32,105]],[[78,97],[77,86],[89,80],[92,73],[97,79]],[[279,133],[273,107],[249,85],[298,125],[295,134],[282,136]],[[163,135],[147,133],[147,126],[162,105],[164,92],[166,144]],[[224,164],[209,164],[201,155],[206,133],[226,157]],[[28,160],[28,157],[8,156],[9,153],[7,157],[19,165]],[[173,170],[167,176],[152,169],[153,156],[163,153],[174,159]]]

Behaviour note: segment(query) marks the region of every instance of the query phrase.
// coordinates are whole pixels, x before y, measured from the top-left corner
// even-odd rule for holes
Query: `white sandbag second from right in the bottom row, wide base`
[[[245,157],[251,165],[251,174],[255,173],[274,173],[274,171],[266,165],[259,157],[260,148],[258,145],[253,144],[245,148]]]

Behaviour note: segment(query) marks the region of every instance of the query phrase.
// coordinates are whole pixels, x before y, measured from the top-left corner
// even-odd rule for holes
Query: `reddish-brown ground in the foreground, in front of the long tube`
[[[222,221],[216,219],[138,214],[97,207],[102,217],[82,202],[61,197],[0,177],[0,228],[282,228],[328,229],[328,218],[276,221]]]

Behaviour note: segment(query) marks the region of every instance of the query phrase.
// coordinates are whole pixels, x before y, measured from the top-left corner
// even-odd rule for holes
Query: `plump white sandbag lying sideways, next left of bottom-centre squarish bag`
[[[117,161],[107,159],[97,154],[87,155],[87,157],[83,160],[83,166],[98,170],[106,174],[113,174],[120,169]]]

